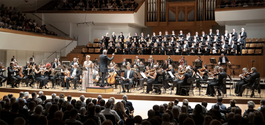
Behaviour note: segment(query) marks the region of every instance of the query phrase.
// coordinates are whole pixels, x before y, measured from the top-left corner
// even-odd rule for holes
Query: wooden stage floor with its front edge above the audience
[[[37,86],[37,84],[35,84]],[[48,87],[50,87],[51,82],[48,83]],[[76,90],[72,90],[72,88],[70,87],[69,90],[62,90],[63,87],[58,87],[59,89],[37,89],[37,88],[31,88],[31,87],[20,87],[19,88],[11,88],[11,86],[8,85],[8,87],[0,87],[0,92],[10,92],[10,93],[19,93],[21,91],[23,92],[39,92],[39,91],[43,91],[45,95],[51,95],[52,93],[56,93],[57,95],[59,95],[60,93],[64,93],[65,96],[67,95],[71,95],[72,97],[80,97],[80,95],[84,95],[86,98],[87,97],[92,97],[92,98],[97,98],[97,96],[99,94],[101,94],[103,96],[103,98],[110,98],[110,97],[115,97],[115,99],[122,99],[123,95],[127,95],[129,99],[132,100],[150,100],[150,101],[174,101],[174,99],[178,98],[179,100],[183,100],[183,99],[188,99],[189,102],[202,102],[202,101],[206,101],[208,103],[216,103],[216,97],[208,97],[207,95],[205,95],[206,90],[203,89],[201,92],[201,94],[203,94],[204,96],[196,96],[196,94],[199,94],[198,89],[193,90],[194,92],[194,96],[193,95],[189,95],[189,96],[179,96],[179,95],[175,95],[175,94],[167,94],[170,93],[170,91],[167,91],[166,94],[140,94],[140,92],[143,92],[143,90],[140,91],[132,91],[131,93],[125,93],[125,94],[117,94],[117,92],[120,92],[120,88],[118,86],[118,89],[114,89],[113,92],[108,92],[108,93],[92,93],[92,92],[85,92],[85,91],[78,91],[80,88],[77,88]],[[176,91],[172,91],[172,92],[176,92]],[[227,94],[229,94],[230,89],[227,88]],[[150,92],[151,93],[151,92]],[[259,94],[258,92],[255,92],[255,97],[237,97],[237,96],[224,96],[223,98],[223,103],[228,103],[229,104],[229,100],[230,99],[235,99],[237,104],[247,104],[247,101],[252,100],[255,102],[255,104],[259,104],[260,103],[260,99],[264,99],[265,98],[265,89],[261,89],[261,98],[259,98]],[[231,89],[231,94],[234,94],[234,89]]]

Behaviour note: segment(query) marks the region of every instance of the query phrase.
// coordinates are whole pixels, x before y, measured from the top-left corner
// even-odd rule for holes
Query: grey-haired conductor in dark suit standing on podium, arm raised
[[[101,84],[100,87],[104,88],[104,80],[106,77],[106,73],[108,72],[108,61],[113,60],[114,53],[112,54],[112,57],[109,58],[107,55],[107,50],[103,50],[103,54],[100,55],[100,68],[105,68],[105,69],[100,69],[100,72],[102,72],[102,79],[101,79]]]

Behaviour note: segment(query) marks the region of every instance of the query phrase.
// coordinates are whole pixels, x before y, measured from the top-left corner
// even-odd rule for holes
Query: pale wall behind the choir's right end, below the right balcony
[[[245,29],[247,38],[265,38],[265,23],[247,23],[246,25],[241,26],[226,25],[228,33],[231,33],[233,29],[235,29],[237,33],[240,33],[241,28]]]

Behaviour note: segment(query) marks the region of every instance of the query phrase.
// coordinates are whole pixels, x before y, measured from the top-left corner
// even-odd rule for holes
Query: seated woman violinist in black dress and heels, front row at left
[[[44,77],[41,77],[41,75],[43,75],[43,70],[40,70],[39,69],[39,67],[40,67],[40,65],[39,64],[36,64],[36,66],[35,66],[35,76],[34,76],[34,79],[35,80],[39,80],[39,88],[40,89],[42,89],[42,87],[43,86],[45,86],[45,88],[47,88],[47,89],[49,89],[48,87],[47,87],[47,80],[44,78]]]

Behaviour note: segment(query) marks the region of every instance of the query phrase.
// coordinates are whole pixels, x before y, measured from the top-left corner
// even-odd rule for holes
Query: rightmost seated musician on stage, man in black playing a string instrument
[[[253,72],[253,73],[250,74],[249,77],[245,77],[244,75],[241,76],[241,78],[246,80],[248,82],[248,84],[243,85],[241,87],[240,93],[236,94],[236,96],[241,96],[242,97],[242,94],[243,94],[245,88],[247,88],[247,87],[254,87],[254,88],[259,89],[258,88],[259,84],[255,84],[255,81],[256,81],[257,78],[260,78],[260,74],[259,74],[259,72],[257,72],[257,69],[255,67],[251,68],[251,72]],[[252,89],[250,97],[253,97],[253,96],[254,96],[254,91]]]

